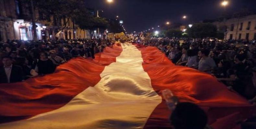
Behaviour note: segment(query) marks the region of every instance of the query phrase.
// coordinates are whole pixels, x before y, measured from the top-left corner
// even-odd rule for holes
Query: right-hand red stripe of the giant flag
[[[200,105],[208,114],[208,123],[218,127],[215,129],[224,126],[223,121],[218,119],[232,116],[237,112],[240,113],[240,119],[247,118],[254,109],[246,99],[228,91],[224,84],[219,83],[211,75],[174,65],[156,47],[136,47],[142,53],[143,68],[148,73],[154,90],[161,95],[161,90],[170,89],[181,102]],[[169,114],[170,111],[163,100],[152,112],[144,129],[170,128]],[[234,123],[234,120],[231,122]],[[235,124],[230,124],[229,127],[232,128],[233,125]]]

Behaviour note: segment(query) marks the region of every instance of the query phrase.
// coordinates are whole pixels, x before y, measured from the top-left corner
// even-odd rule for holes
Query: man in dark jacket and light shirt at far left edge
[[[0,67],[0,83],[15,83],[23,79],[22,68],[12,64],[12,58],[5,56],[2,58],[4,66]]]

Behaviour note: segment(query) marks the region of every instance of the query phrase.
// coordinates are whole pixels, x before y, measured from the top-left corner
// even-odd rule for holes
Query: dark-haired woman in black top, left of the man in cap
[[[52,60],[48,59],[48,55],[45,52],[40,53],[40,60],[38,61],[37,65],[39,75],[51,74],[56,68]]]

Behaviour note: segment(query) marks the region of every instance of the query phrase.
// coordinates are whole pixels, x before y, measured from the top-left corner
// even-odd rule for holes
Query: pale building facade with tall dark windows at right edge
[[[225,39],[256,39],[256,15],[228,19],[225,22],[214,22],[218,30],[227,27]]]

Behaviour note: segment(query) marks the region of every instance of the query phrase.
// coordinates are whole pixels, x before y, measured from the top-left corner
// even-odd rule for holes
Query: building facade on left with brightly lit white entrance
[[[46,16],[37,10],[35,13],[38,40],[90,38],[88,31],[79,29],[71,19]],[[28,5],[19,0],[0,0],[0,41],[33,40],[31,14]]]

